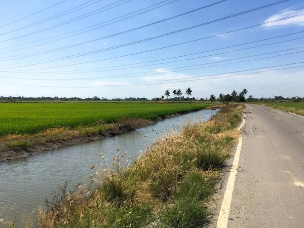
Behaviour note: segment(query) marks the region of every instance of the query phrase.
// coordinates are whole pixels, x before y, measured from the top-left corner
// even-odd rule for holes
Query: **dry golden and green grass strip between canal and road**
[[[206,123],[187,123],[149,146],[128,164],[127,154],[105,165],[92,164],[96,175],[68,191],[67,183],[25,227],[202,227],[212,213],[208,202],[230,148],[244,105],[222,108]],[[119,148],[118,148],[119,150]]]

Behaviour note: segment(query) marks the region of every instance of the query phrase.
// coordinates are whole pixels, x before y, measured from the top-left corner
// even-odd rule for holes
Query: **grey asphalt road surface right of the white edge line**
[[[304,227],[304,118],[246,106],[227,227]]]

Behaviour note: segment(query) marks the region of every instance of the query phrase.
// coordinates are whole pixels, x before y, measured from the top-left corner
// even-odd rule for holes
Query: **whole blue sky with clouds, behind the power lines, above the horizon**
[[[61,0],[62,1],[62,0]],[[273,95],[283,96],[301,96],[303,97],[304,86],[304,67],[277,70],[262,73],[251,73],[246,75],[232,76],[230,74],[222,74],[227,72],[241,71],[253,68],[269,67],[281,64],[289,64],[295,62],[301,62],[303,60],[303,53],[290,54],[285,56],[278,56],[273,58],[248,61],[242,63],[226,64],[222,66],[214,66],[208,68],[185,70],[172,72],[172,68],[184,67],[190,65],[204,64],[214,62],[214,64],[208,64],[206,66],[212,66],[222,63],[230,63],[234,61],[222,62],[224,60],[230,60],[235,58],[242,58],[251,55],[259,55],[268,52],[281,51],[291,48],[299,48],[304,44],[304,39],[293,40],[290,42],[284,42],[275,45],[269,45],[259,48],[252,48],[243,51],[237,51],[227,54],[221,54],[227,51],[233,51],[243,48],[255,47],[258,45],[270,44],[274,42],[286,41],[291,39],[297,39],[304,37],[304,33],[293,34],[289,36],[280,37],[268,41],[243,45],[234,48],[227,48],[218,51],[212,51],[204,54],[197,54],[188,57],[180,57],[166,61],[156,61],[153,63],[162,63],[172,60],[182,60],[185,58],[201,57],[205,55],[213,55],[208,57],[197,58],[194,60],[186,60],[174,63],[158,64],[153,66],[143,66],[129,69],[118,69],[102,72],[86,72],[86,73],[71,73],[62,71],[77,71],[84,69],[105,68],[113,67],[125,64],[134,64],[145,61],[158,60],[163,58],[171,58],[180,55],[193,54],[197,52],[204,52],[208,50],[229,47],[247,42],[253,42],[262,39],[268,39],[274,36],[280,36],[284,34],[304,31],[304,16],[297,16],[287,20],[281,20],[274,23],[265,24],[263,26],[256,26],[250,29],[244,29],[241,31],[229,33],[226,35],[214,36],[209,39],[192,42],[184,45],[178,45],[175,47],[165,48],[157,51],[146,52],[142,54],[115,58],[111,60],[97,61],[93,63],[79,64],[89,61],[95,61],[105,58],[112,58],[122,55],[128,55],[131,53],[142,52],[151,49],[157,49],[174,44],[179,44],[195,39],[199,39],[205,36],[212,36],[223,32],[260,24],[263,22],[273,21],[284,17],[289,17],[297,14],[304,13],[304,3],[300,0],[292,0],[286,3],[282,3],[276,6],[265,8],[259,11],[241,15],[238,17],[222,20],[216,23],[212,23],[206,26],[197,27],[194,29],[186,30],[183,32],[167,35],[159,39],[142,42],[127,47],[113,49],[109,51],[103,51],[95,54],[85,55],[77,58],[70,58],[55,62],[48,62],[43,64],[36,64],[46,62],[48,59],[60,58],[64,56],[71,56],[80,53],[86,53],[96,51],[105,48],[111,48],[130,42],[135,42],[143,39],[147,39],[152,36],[165,34],[171,31],[176,31],[186,27],[194,26],[204,22],[212,21],[218,18],[226,17],[232,14],[250,10],[263,5],[275,3],[277,1],[242,1],[242,0],[228,0],[223,3],[211,6],[206,9],[196,11],[191,14],[187,14],[172,20],[168,20],[156,25],[144,27],[132,32],[120,34],[117,36],[109,37],[106,39],[98,40],[97,42],[90,42],[85,45],[80,45],[73,48],[65,48],[59,51],[52,51],[35,56],[27,56],[29,53],[41,52],[46,50],[52,50],[60,47],[71,46],[82,42],[92,41],[99,39],[100,37],[108,36],[111,34],[119,33],[136,27],[140,27],[149,23],[160,21],[169,17],[173,17],[182,14],[187,11],[195,10],[200,7],[219,2],[219,0],[212,1],[199,1],[199,0],[179,0],[167,6],[155,9],[153,11],[141,14],[139,16],[111,24],[96,30],[92,30],[83,34],[69,37],[49,44],[39,45],[36,47],[29,46],[35,44],[41,44],[44,42],[36,42],[34,44],[23,45],[26,43],[32,43],[49,37],[72,32],[78,29],[82,29],[88,26],[95,25],[113,18],[123,16],[133,11],[140,10],[142,8],[151,6],[162,2],[161,0],[132,0],[121,1],[117,4],[122,4],[118,7],[106,10],[101,13],[97,13],[93,16],[71,22],[53,29],[45,30],[43,32],[35,33],[32,35],[26,35],[33,31],[45,29],[56,25],[61,22],[65,22],[69,19],[84,15],[86,13],[97,10],[101,7],[107,6],[112,3],[118,2],[118,0],[92,0],[88,4],[93,4],[84,9],[68,13],[64,16],[58,17],[53,20],[46,21],[34,26],[12,31],[18,28],[22,28],[32,23],[50,18],[58,13],[69,10],[73,7],[79,6],[88,1],[66,0],[57,6],[51,7],[41,13],[37,13],[33,16],[27,17],[15,23],[5,25],[17,19],[28,16],[32,13],[48,8],[56,3],[56,1],[3,1],[0,8],[0,33],[6,33],[0,35],[0,95],[14,96],[18,91],[19,96],[65,96],[65,97],[159,97],[164,94],[166,89],[172,91],[173,89],[182,89],[183,91],[187,87],[191,87],[193,90],[193,96],[209,97],[210,94],[218,96],[219,93],[231,93],[233,90],[241,91],[243,88],[247,88],[248,95],[255,97],[271,97]],[[170,2],[170,1],[169,1]],[[88,5],[87,4],[87,5]],[[117,5],[116,4],[116,5]],[[84,5],[86,6],[86,5]],[[115,6],[115,5],[113,5]],[[75,8],[77,9],[77,8]],[[106,9],[106,8],[105,8]],[[12,32],[10,32],[12,31]],[[72,33],[71,33],[72,34]],[[18,39],[14,39],[18,36],[23,36]],[[64,37],[64,36],[61,36]],[[13,40],[10,40],[13,39]],[[10,40],[10,41],[6,41]],[[50,39],[52,41],[55,39]],[[22,46],[18,46],[22,45]],[[14,47],[18,46],[18,47]],[[17,50],[25,48],[23,50]],[[284,51],[274,54],[262,55],[258,57],[246,58],[246,60],[268,57],[273,55],[288,54],[293,52],[304,51],[304,48],[295,49],[290,51]],[[15,57],[14,57],[15,56]],[[21,57],[21,58],[20,58]],[[15,58],[15,59],[14,59]],[[16,59],[17,58],[17,59]],[[45,61],[46,60],[46,61]],[[245,60],[245,59],[244,59]],[[240,61],[240,60],[238,60]],[[29,63],[28,63],[29,62]],[[36,64],[31,66],[22,66],[27,64]],[[79,64],[79,65],[72,65]],[[141,66],[146,64],[138,64],[132,66]],[[151,63],[150,63],[151,64]],[[62,65],[72,65],[58,67]],[[304,64],[294,64],[292,66],[303,66]],[[14,68],[12,68],[14,67]],[[54,68],[49,68],[54,67]],[[130,67],[130,66],[126,66]],[[126,67],[114,67],[126,68]],[[283,66],[282,66],[283,67]],[[40,69],[48,68],[48,69]],[[194,68],[194,67],[193,67]],[[269,69],[276,69],[280,67],[273,67]],[[269,70],[268,69],[268,70]],[[104,69],[103,69],[104,70]],[[15,71],[15,72],[7,72]],[[96,71],[96,70],[93,70]],[[261,70],[255,70],[257,72]],[[153,75],[143,75],[139,77],[129,78],[109,78],[102,79],[104,77],[113,77],[116,75],[136,74],[142,72],[158,73]],[[246,71],[248,73],[251,71]],[[146,73],[149,74],[149,73]],[[163,80],[180,80],[183,81],[186,78],[198,77],[200,75],[221,74],[218,76],[232,76],[218,79],[208,79],[199,81],[188,82],[174,82],[169,81],[163,84],[156,84]],[[218,77],[214,76],[214,77]],[[19,79],[13,79],[19,78]],[[84,79],[82,81],[72,79]],[[89,80],[88,78],[99,78]],[[208,77],[207,77],[208,78]],[[31,79],[31,80],[25,80]],[[53,81],[39,81],[33,79],[52,79]],[[198,79],[198,78],[197,78]],[[201,78],[202,79],[202,78]],[[62,81],[64,80],[64,81]],[[151,85],[130,86],[133,83],[151,83]],[[79,88],[65,88],[65,87],[79,87]],[[85,88],[87,87],[87,88]]]

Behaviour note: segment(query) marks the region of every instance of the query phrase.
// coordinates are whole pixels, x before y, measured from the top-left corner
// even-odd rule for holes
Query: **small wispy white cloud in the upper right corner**
[[[285,17],[291,17],[294,15],[302,14],[302,13],[304,13],[304,9],[303,10],[285,9],[285,10],[282,10],[278,14],[270,16],[269,18],[264,20],[264,23],[274,21],[274,20],[279,20],[279,19],[282,19]],[[275,22],[271,22],[271,23],[262,25],[262,27],[264,29],[272,29],[272,28],[276,28],[276,27],[288,27],[288,26],[304,26],[304,15],[300,15],[297,17],[292,17],[292,18],[288,18],[285,20],[275,21]]]

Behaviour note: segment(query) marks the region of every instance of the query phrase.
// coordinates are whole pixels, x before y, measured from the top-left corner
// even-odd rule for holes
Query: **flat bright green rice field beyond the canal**
[[[209,103],[167,102],[39,102],[0,103],[0,137],[35,134],[50,128],[75,128],[115,123],[121,118],[153,120],[166,115],[199,110]]]

